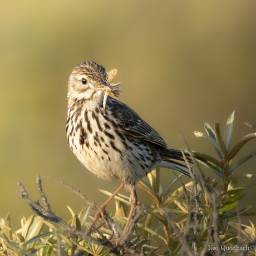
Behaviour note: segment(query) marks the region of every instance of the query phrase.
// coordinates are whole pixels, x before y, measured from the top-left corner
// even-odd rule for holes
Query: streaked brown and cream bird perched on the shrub
[[[131,209],[124,232],[137,205],[136,183],[152,170],[163,167],[189,176],[181,150],[170,149],[164,139],[129,106],[109,97],[104,67],[82,62],[68,80],[66,133],[77,159],[97,177],[121,185],[97,210],[92,227],[104,216],[106,205],[123,188],[130,191]]]

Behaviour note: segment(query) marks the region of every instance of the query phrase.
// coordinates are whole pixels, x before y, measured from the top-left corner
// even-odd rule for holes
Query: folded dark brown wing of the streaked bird
[[[163,138],[150,125],[143,121],[137,113],[122,102],[109,98],[107,110],[118,122],[117,129],[134,137],[150,141],[156,145],[167,147]]]

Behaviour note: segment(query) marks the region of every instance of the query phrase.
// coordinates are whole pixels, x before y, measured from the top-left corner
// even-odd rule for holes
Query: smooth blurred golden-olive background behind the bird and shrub
[[[97,188],[119,186],[86,170],[66,141],[67,81],[82,61],[116,68],[120,100],[171,148],[185,147],[179,131],[191,149],[216,156],[193,132],[205,132],[204,122],[214,121],[224,132],[235,108],[233,145],[255,132],[244,125],[256,124],[255,11],[253,0],[1,1],[0,216],[11,212],[17,229],[21,214],[32,215],[16,191],[21,181],[39,199],[36,174],[65,181],[98,205],[107,196]],[[255,148],[256,141],[249,141],[237,160]],[[243,166],[237,173],[256,174],[255,157]],[[165,183],[174,176],[164,169],[161,175]],[[66,205],[73,211],[85,206],[50,180],[43,179],[43,188],[52,210],[65,220],[71,218]],[[256,212],[255,188],[247,193],[243,203]],[[150,204],[139,189],[138,194]],[[107,210],[114,211],[114,202]]]

